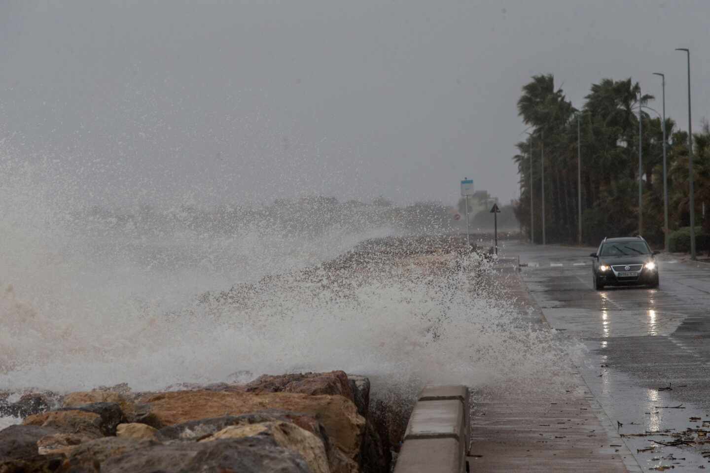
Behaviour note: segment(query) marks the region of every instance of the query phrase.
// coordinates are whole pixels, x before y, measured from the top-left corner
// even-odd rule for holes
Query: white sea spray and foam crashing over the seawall
[[[80,182],[55,171],[2,161],[0,389],[161,389],[330,369],[406,389],[559,369],[553,335],[484,290],[479,255],[439,255],[437,271],[388,255],[304,273],[394,230],[273,219],[213,231],[184,208],[121,221],[80,211]],[[228,292],[234,284],[246,285]]]

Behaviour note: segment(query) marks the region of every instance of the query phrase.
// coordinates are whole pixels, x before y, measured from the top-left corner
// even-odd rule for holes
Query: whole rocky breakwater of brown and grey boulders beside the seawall
[[[0,430],[0,473],[386,473],[390,445],[371,421],[369,387],[335,371],[74,392]]]

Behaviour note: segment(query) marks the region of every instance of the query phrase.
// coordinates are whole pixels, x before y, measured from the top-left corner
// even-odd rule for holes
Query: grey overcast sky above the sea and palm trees
[[[633,77],[710,114],[710,1],[3,0],[0,140],[94,199],[518,196],[515,103]]]

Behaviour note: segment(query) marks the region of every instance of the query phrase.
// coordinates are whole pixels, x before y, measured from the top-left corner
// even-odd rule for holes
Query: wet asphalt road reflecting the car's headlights
[[[638,465],[710,469],[710,265],[659,255],[659,289],[595,291],[594,250],[506,242],[501,255],[520,255],[547,322],[586,347],[574,362]]]

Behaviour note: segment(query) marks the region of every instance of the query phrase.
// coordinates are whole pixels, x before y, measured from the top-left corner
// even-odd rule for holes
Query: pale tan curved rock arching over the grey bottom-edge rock
[[[308,464],[311,473],[330,473],[328,458],[322,440],[290,422],[275,421],[230,425],[200,441],[212,442],[227,438],[253,437],[254,435],[271,437],[280,447],[301,455]]]

